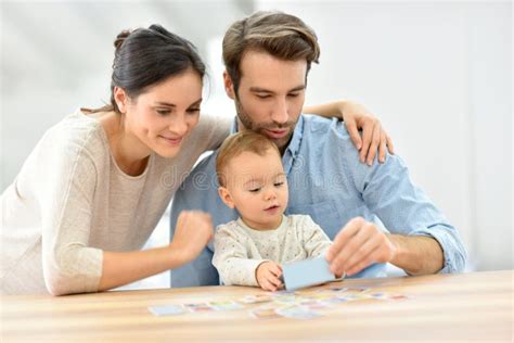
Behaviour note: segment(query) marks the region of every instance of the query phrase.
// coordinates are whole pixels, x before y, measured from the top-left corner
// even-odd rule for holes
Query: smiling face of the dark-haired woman
[[[137,99],[127,99],[125,127],[147,149],[174,157],[198,123],[201,103],[202,78],[190,68],[152,86]]]

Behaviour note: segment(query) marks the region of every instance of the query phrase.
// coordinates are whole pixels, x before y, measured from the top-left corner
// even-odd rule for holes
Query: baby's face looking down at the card
[[[227,190],[233,206],[254,229],[275,229],[287,207],[287,179],[280,155],[268,149],[264,156],[243,152],[227,167]]]

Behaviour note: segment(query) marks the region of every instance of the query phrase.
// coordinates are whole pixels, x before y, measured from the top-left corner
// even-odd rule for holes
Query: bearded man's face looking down
[[[226,75],[226,89],[235,101],[240,129],[268,137],[283,152],[304,106],[307,61],[283,61],[249,51],[241,61],[241,72],[237,93]]]

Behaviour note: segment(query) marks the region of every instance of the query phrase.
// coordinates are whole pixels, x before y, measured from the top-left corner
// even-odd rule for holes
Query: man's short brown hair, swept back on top
[[[300,18],[277,11],[256,12],[232,24],[223,37],[223,62],[235,93],[242,76],[241,60],[250,50],[284,61],[305,59],[307,73],[320,56],[318,37]]]

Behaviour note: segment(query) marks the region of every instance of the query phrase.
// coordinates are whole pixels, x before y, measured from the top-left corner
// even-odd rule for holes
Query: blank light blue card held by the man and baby
[[[282,271],[286,290],[297,290],[336,279],[324,256],[284,264]]]

